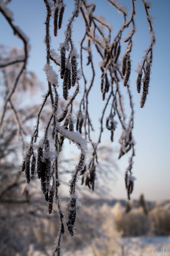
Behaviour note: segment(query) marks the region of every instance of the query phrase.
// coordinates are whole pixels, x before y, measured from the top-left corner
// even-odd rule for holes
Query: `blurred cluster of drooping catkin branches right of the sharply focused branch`
[[[108,111],[108,108],[110,106],[109,102],[112,102],[111,108],[110,108],[110,114],[106,118],[106,128],[111,132],[111,141],[113,142],[114,137],[114,130],[117,127],[117,119],[116,115],[118,117],[118,120],[120,122],[120,125],[122,126],[123,133],[120,139],[120,154],[119,158],[123,156],[125,153],[127,153],[130,150],[134,151],[132,140],[132,129],[133,129],[133,104],[132,104],[132,96],[129,90],[129,77],[130,77],[130,71],[131,71],[131,64],[130,64],[130,52],[132,49],[132,37],[135,32],[135,25],[134,25],[134,15],[135,15],[135,7],[134,7],[134,1],[132,0],[132,14],[129,19],[129,21],[126,21],[126,10],[122,6],[120,6],[116,1],[108,1],[112,6],[114,6],[118,12],[121,12],[124,16],[124,23],[121,26],[118,34],[116,37],[111,41],[111,25],[109,25],[103,17],[96,17],[93,12],[95,10],[95,5],[88,5],[85,1],[82,1],[81,6],[81,12],[82,16],[85,22],[85,35],[81,41],[81,68],[82,68],[82,74],[84,79],[84,94],[82,97],[82,100],[80,102],[80,108],[78,112],[78,119],[77,119],[77,130],[81,133],[82,128],[84,127],[85,130],[85,136],[88,136],[88,140],[90,141],[92,147],[93,147],[93,154],[92,158],[89,161],[89,165],[85,170],[81,173],[83,175],[82,181],[84,181],[85,178],[85,184],[89,186],[89,188],[92,185],[92,189],[94,189],[94,181],[95,181],[95,165],[98,163],[98,157],[97,157],[97,149],[98,145],[101,142],[101,137],[104,129],[104,117],[106,110]],[[121,74],[119,68],[119,58],[120,58],[120,52],[121,52],[121,38],[123,31],[129,27],[129,25],[132,23],[133,30],[130,32],[130,36],[125,41],[128,42],[126,54],[124,57],[124,63],[126,58],[126,66],[124,64],[124,71]],[[102,27],[106,27],[108,30],[108,35],[104,35],[102,32]],[[98,31],[98,33],[96,32]],[[99,37],[100,36],[100,37]],[[85,46],[85,39],[87,39],[87,45]],[[95,65],[92,55],[92,45],[95,45],[97,52],[99,53],[101,57],[100,62],[100,69],[101,69],[101,92],[102,92],[102,99],[105,100],[105,95],[109,93],[109,96],[106,100],[102,116],[100,118],[100,133],[99,133],[99,139],[98,142],[95,143],[92,140],[91,132],[93,131],[92,122],[90,120],[90,110],[88,107],[89,102],[89,94],[91,92],[92,87],[94,86],[94,78],[95,78]],[[87,78],[85,76],[84,72],[84,66],[83,66],[83,58],[85,56],[85,52],[88,54],[88,63],[87,66],[91,66],[92,70],[92,79],[89,84],[87,85]],[[125,78],[124,78],[125,76]],[[125,111],[123,109],[123,103],[122,103],[122,92],[120,90],[121,88],[121,81],[124,81],[124,86],[126,86],[128,95],[129,95],[129,103],[130,108],[132,109],[132,114],[130,117],[131,120],[131,126],[129,123],[126,124],[125,119]],[[131,129],[130,129],[131,128]],[[131,137],[129,137],[129,134],[131,134]],[[125,141],[126,144],[121,143],[121,140]]]

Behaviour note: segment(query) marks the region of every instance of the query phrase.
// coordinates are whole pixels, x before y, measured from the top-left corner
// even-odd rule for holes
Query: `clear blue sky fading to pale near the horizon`
[[[116,35],[120,24],[123,22],[122,15],[118,15],[105,0],[95,0],[92,2],[97,3],[94,14],[106,17],[112,24],[113,36]],[[131,1],[120,1],[121,4],[127,2],[129,2],[129,13]],[[67,24],[67,19],[71,15],[74,1],[65,0],[65,4],[67,4],[67,6],[63,24]],[[133,62],[130,86],[135,111],[133,136],[136,142],[136,156],[134,158],[133,174],[137,179],[135,181],[132,198],[138,198],[140,193],[143,193],[147,200],[168,199],[170,196],[170,1],[152,1],[150,14],[154,17],[153,27],[155,30],[156,44],[153,49],[153,66],[149,95],[143,109],[139,108],[140,95],[137,93],[135,86],[137,78],[135,69],[144,55],[143,51],[147,49],[150,43],[150,34],[142,1],[135,1],[135,4],[137,11],[137,32],[133,38],[134,47],[132,51]],[[8,6],[14,13],[15,24],[20,26],[24,33],[30,38],[31,51],[28,69],[34,71],[38,79],[46,86],[46,76],[42,70],[45,64],[45,45],[43,40],[45,34],[44,21],[46,9],[44,1],[12,0]],[[83,35],[84,28],[82,29],[82,26],[82,17],[80,16],[73,27],[75,44],[81,40],[81,35]],[[22,43],[12,35],[12,30],[2,15],[0,15],[0,31],[1,44],[22,47]],[[53,48],[58,49],[59,43],[63,42],[62,31],[58,32],[57,38],[52,37],[52,40]],[[99,98],[100,97],[101,95],[99,95]],[[97,133],[99,125],[97,124],[98,119],[95,119],[95,116],[97,116],[96,109],[94,109],[94,107],[92,109],[91,115],[95,120]],[[115,135],[118,137],[120,133],[121,131],[116,131]],[[109,143],[109,137],[110,134],[108,136],[104,135],[103,143]],[[115,148],[116,147],[117,145],[115,145]],[[126,198],[124,171],[127,167],[127,160],[128,157],[119,161],[116,160],[119,166],[119,175],[118,181],[112,189],[112,196],[114,198]]]

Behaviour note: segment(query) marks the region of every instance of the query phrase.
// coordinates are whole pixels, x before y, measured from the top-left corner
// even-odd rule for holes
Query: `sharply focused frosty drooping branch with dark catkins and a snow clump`
[[[58,213],[60,217],[59,233],[56,240],[56,244],[52,255],[60,255],[61,253],[61,241],[65,232],[64,218],[71,236],[74,234],[74,223],[76,213],[76,182],[78,173],[82,171],[85,166],[85,155],[87,141],[78,132],[74,131],[73,124],[73,102],[79,92],[79,75],[78,75],[78,54],[72,41],[72,24],[76,17],[78,17],[80,9],[80,0],[75,3],[74,11],[69,19],[69,23],[65,31],[65,41],[60,44],[60,58],[61,64],[51,56],[51,40],[50,40],[50,20],[52,11],[58,8],[57,12],[63,15],[63,2],[57,1],[52,8],[49,1],[44,0],[46,6],[46,20],[45,20],[45,45],[46,45],[46,64],[44,66],[44,72],[47,76],[48,90],[44,96],[43,103],[37,115],[37,124],[35,126],[33,135],[31,136],[30,147],[25,154],[23,165],[21,170],[25,171],[27,182],[31,181],[31,175],[35,174],[36,160],[37,160],[37,175],[41,181],[41,189],[44,194],[44,198],[48,203],[48,213],[52,212],[53,203],[55,202],[58,207]],[[54,19],[58,19],[58,15],[54,15]],[[61,15],[59,15],[59,22],[55,21],[54,24],[58,24],[58,28],[61,26]],[[56,27],[54,31],[57,35]],[[68,52],[68,56],[67,56]],[[51,66],[51,61],[60,66],[60,75],[63,79],[63,98],[65,100],[65,107],[60,109],[60,101],[58,97],[57,88],[58,75]],[[52,74],[52,75],[51,75]],[[74,87],[75,91],[69,97],[69,91],[71,87]],[[39,141],[37,153],[35,152],[35,143],[37,142],[39,133],[40,116],[44,111],[45,103],[50,96],[51,98],[51,115],[47,121],[46,128],[44,129],[44,138]],[[64,214],[61,206],[61,199],[59,195],[60,186],[60,169],[58,166],[58,157],[62,150],[64,140],[68,139],[70,142],[75,143],[78,149],[81,151],[78,165],[75,167],[75,174],[70,182],[70,206],[68,206],[66,213]],[[52,141],[52,142],[51,142]],[[36,159],[37,158],[37,159]],[[54,200],[55,199],[55,200]],[[74,208],[74,210],[73,210]],[[74,213],[72,212],[74,211]]]

